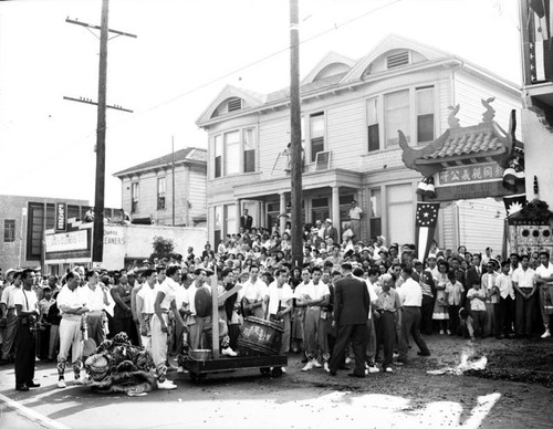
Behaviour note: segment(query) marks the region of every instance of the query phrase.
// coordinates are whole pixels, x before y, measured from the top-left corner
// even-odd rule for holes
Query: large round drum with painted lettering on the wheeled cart
[[[238,337],[238,350],[241,356],[278,355],[283,332],[278,323],[246,317]]]

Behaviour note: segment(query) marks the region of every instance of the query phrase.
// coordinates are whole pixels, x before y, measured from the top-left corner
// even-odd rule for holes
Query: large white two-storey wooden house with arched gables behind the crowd
[[[406,167],[405,145],[426,147],[450,127],[453,114],[462,127],[478,126],[487,111],[482,100],[490,98],[493,127],[503,135],[511,111],[520,116],[520,88],[476,64],[396,35],[358,60],[328,53],[301,82],[304,221],[331,218],[343,228],[355,199],[364,211],[364,241],[383,234],[413,243],[421,175]],[[257,94],[229,85],[197,125],[208,138],[209,240],[237,232],[244,209],[254,227],[279,222],[291,188],[289,88]],[[451,216],[445,206],[437,230],[440,245],[449,248],[456,244],[456,233],[445,228],[453,228]],[[474,223],[469,218],[467,226]]]

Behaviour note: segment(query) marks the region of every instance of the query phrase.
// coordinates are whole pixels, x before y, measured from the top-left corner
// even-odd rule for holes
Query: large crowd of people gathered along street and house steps
[[[411,341],[418,355],[430,355],[424,335],[551,336],[547,252],[501,260],[490,248],[480,254],[432,243],[420,261],[413,244],[356,240],[356,224],[340,239],[326,219],[305,230],[298,266],[290,223],[282,233],[247,227],[216,249],[207,243],[201,254],[189,248],[186,255],[119,271],[76,266],[59,278],[9,269],[0,300],[1,364],[14,363],[15,388],[39,386],[35,358],[58,362],[60,388],[67,363],[74,381],[84,383],[83,338],[101,345],[118,333],[148,350],[159,388],[176,388],[166,377],[169,355],[211,347],[205,297],[215,286],[223,356],[239,354],[244,317],[258,317],[281,326],[280,352],[301,353],[302,372],[335,375],[354,360],[354,377],[393,373],[408,364]]]

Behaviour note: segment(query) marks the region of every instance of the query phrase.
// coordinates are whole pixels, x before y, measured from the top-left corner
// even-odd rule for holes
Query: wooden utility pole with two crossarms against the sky
[[[102,0],[102,15],[98,25],[92,25],[86,22],[66,19],[65,22],[82,25],[87,29],[100,30],[100,67],[98,67],[98,101],[93,102],[87,98],[63,97],[64,100],[97,105],[97,125],[96,125],[96,184],[94,191],[94,229],[92,240],[92,262],[101,263],[104,259],[104,195],[105,195],[105,134],[106,134],[106,108],[129,112],[118,105],[108,106],[106,103],[107,93],[107,41],[109,33],[115,36],[126,35],[135,38],[135,34],[125,33],[117,30],[111,30],[107,27],[109,15],[109,0]]]

